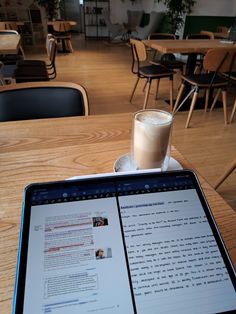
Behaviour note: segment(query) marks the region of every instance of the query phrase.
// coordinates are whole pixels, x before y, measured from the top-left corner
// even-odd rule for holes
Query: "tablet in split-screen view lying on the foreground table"
[[[233,313],[235,278],[192,171],[25,189],[13,313]]]

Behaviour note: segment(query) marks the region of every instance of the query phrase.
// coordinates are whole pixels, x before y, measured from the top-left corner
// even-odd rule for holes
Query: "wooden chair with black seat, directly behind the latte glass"
[[[169,78],[170,80],[170,105],[171,109],[173,108],[173,75],[174,72],[162,65],[143,65],[147,61],[147,52],[146,47],[142,41],[136,39],[130,39],[131,51],[132,51],[132,73],[137,76],[137,80],[135,82],[130,102],[133,99],[136,87],[140,79],[147,80],[147,88],[146,94],[143,104],[143,109],[146,109],[148,104],[148,98],[150,93],[150,88],[152,84],[152,80],[157,80],[157,89],[156,89],[156,97],[158,94],[158,88],[160,79]]]

